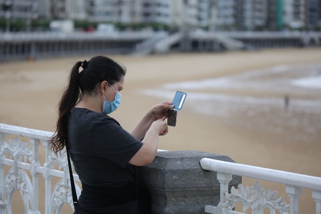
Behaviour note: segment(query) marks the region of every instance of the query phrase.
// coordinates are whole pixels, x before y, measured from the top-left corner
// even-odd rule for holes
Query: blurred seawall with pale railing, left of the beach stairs
[[[164,32],[19,32],[0,34],[0,60],[34,59],[91,53],[131,53],[135,46]]]

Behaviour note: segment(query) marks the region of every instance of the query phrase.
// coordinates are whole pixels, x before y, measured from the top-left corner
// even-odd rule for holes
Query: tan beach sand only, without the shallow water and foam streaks
[[[242,74],[256,69],[278,65],[321,63],[321,49],[269,49],[253,52],[189,53],[169,54],[166,56],[110,56],[123,63],[127,68],[122,104],[110,116],[114,117],[128,131],[153,105],[164,101],[155,94],[146,95],[146,91],[159,89],[165,83],[195,81]],[[55,131],[56,106],[65,86],[68,69],[72,62],[90,59],[90,56],[53,58],[34,62],[19,61],[1,63],[0,68],[0,123]],[[70,62],[70,63],[68,63]],[[184,89],[184,88],[183,88]],[[183,90],[182,89],[182,90]],[[177,89],[179,90],[179,88]],[[282,99],[284,92],[291,99],[318,100],[320,90],[248,90],[248,89],[202,89],[204,93],[224,95],[246,95],[257,98]],[[172,89],[175,94],[176,89]],[[183,90],[184,91],[184,90]],[[195,92],[192,89],[189,92]],[[160,137],[159,148],[165,150],[199,150],[224,154],[241,164],[273,168],[300,174],[321,177],[319,163],[321,156],[321,113],[317,111],[295,111],[291,106],[283,110],[282,104],[269,108],[265,105],[257,108],[240,105],[239,111],[229,111],[229,117],[221,114],[206,114],[198,107],[199,102],[187,99],[184,108],[178,112],[176,127],[170,127],[166,136]],[[229,105],[229,103],[227,103]],[[236,106],[237,103],[230,105]],[[217,106],[213,105],[215,109]],[[263,107],[263,108],[262,108]],[[302,108],[306,109],[306,108]],[[310,108],[308,108],[310,110]],[[213,109],[212,109],[213,110]],[[251,111],[250,111],[251,110]],[[278,118],[280,129],[275,127]],[[305,126],[288,126],[288,121],[306,123],[314,128],[307,132]],[[244,121],[244,123],[240,123]],[[243,125],[242,125],[243,124]],[[245,125],[244,125],[245,124]],[[252,124],[252,126],[250,125]],[[271,131],[272,130],[272,131]],[[279,131],[277,131],[279,130]],[[308,133],[308,134],[307,134]],[[299,136],[299,137],[293,137]],[[300,138],[308,136],[308,138]],[[11,136],[8,136],[11,137]],[[28,139],[24,139],[28,141]],[[40,146],[39,159],[44,163],[44,149]],[[6,167],[9,169],[10,167]],[[215,179],[215,178],[213,178]],[[52,187],[59,179],[53,179]],[[243,185],[252,186],[256,180],[243,177]],[[44,213],[44,179],[39,176],[39,210]],[[267,190],[278,191],[278,197],[285,195],[285,185],[259,181]],[[20,193],[13,194],[13,205],[22,204]],[[241,211],[241,207],[237,207]],[[13,206],[13,213],[22,213],[22,206]],[[67,205],[63,213],[70,213]],[[300,213],[315,213],[315,202],[311,191],[303,189],[299,198]]]

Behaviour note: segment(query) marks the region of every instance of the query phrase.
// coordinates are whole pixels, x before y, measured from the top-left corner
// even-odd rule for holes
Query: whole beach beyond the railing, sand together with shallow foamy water
[[[130,131],[153,105],[183,91],[187,98],[177,126],[160,137],[159,149],[224,154],[240,164],[321,177],[320,56],[317,48],[110,56],[127,68],[122,103],[110,116]],[[0,123],[55,131],[68,69],[73,62],[90,58],[2,62]],[[288,109],[285,94],[290,97]],[[42,145],[39,160],[43,165]],[[58,180],[52,180],[52,188]],[[243,177],[244,186],[255,181]],[[285,185],[259,183],[289,202]],[[39,184],[39,210],[44,213],[42,175]],[[315,213],[311,192],[303,189],[299,213]],[[14,192],[12,204],[13,213],[23,213],[20,192]],[[242,211],[242,206],[236,210]],[[64,205],[62,213],[72,210]]]

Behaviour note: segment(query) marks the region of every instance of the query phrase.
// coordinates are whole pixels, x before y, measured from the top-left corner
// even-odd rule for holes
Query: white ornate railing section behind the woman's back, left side
[[[30,138],[30,145],[22,142],[18,137],[14,140],[4,141],[6,134],[18,135]],[[45,179],[45,213],[60,213],[63,204],[73,207],[71,196],[69,170],[66,153],[57,158],[48,147],[48,139],[53,132],[28,129],[18,126],[0,123],[0,213],[12,214],[12,196],[15,190],[22,195],[24,213],[40,214],[38,210],[39,175]],[[40,164],[38,160],[38,147],[42,140],[45,147],[45,163]],[[10,154],[7,158],[7,154]],[[63,153],[63,152],[62,152]],[[23,158],[22,158],[23,156]],[[29,163],[27,162],[29,160]],[[54,165],[58,163],[58,169]],[[11,169],[4,176],[4,166],[10,165]],[[63,170],[61,170],[63,168]],[[32,182],[26,171],[30,171]],[[51,179],[53,176],[62,178],[51,191]],[[74,174],[74,180],[80,181],[78,175]],[[77,196],[80,188],[75,183]]]

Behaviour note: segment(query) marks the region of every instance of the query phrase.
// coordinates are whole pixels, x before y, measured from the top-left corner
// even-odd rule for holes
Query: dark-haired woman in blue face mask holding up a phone
[[[137,205],[131,209],[151,213],[149,192],[135,166],[148,165],[155,158],[158,136],[168,132],[167,110],[174,106],[155,105],[128,133],[107,115],[120,104],[125,74],[125,67],[104,56],[74,65],[59,103],[52,150],[58,156],[68,146],[82,182],[79,206],[122,207],[137,199],[138,209]]]

